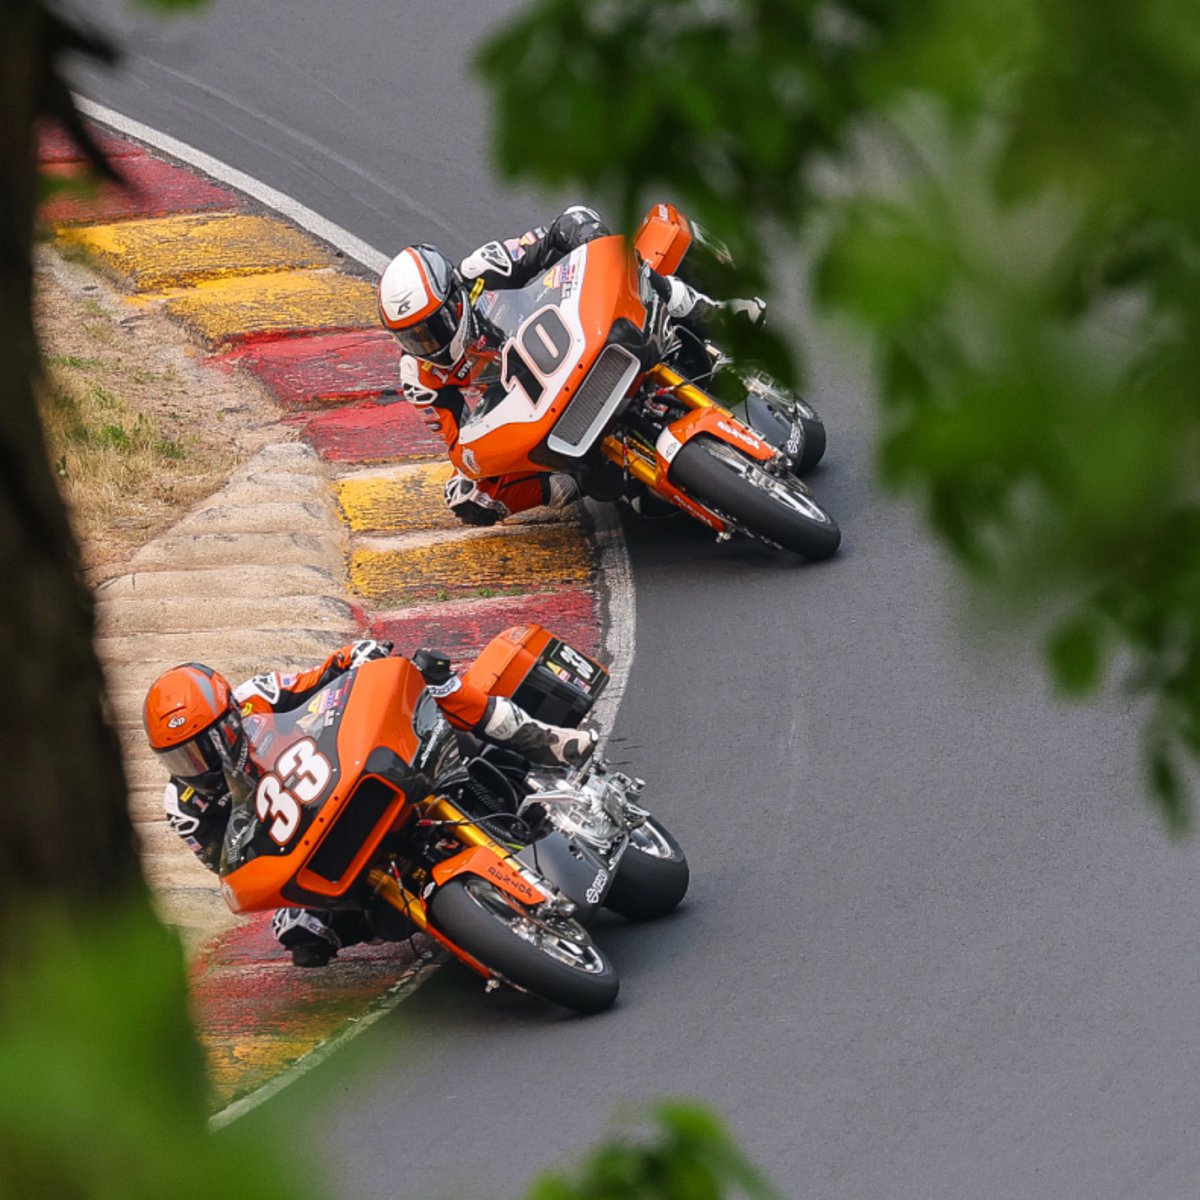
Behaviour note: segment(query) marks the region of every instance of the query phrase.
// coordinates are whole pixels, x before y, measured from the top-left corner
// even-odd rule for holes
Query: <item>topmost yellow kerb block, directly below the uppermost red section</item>
[[[336,263],[312,238],[282,221],[242,214],[64,226],[58,235],[130,280],[138,292]]]

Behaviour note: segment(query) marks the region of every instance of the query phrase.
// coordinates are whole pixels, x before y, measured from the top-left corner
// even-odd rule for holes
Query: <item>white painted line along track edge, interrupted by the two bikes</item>
[[[132,138],[137,138],[146,145],[169,154],[173,158],[179,158],[180,162],[186,162],[188,166],[196,167],[197,170],[204,172],[205,175],[210,175],[212,179],[220,180],[222,184],[234,187],[239,192],[245,192],[252,199],[258,200],[259,204],[274,209],[281,216],[300,226],[301,229],[306,229],[314,236],[320,238],[322,241],[335,246],[348,258],[361,263],[368,270],[382,272],[390,262],[386,254],[373,246],[368,246],[362,239],[355,238],[349,230],[334,224],[332,221],[326,221],[319,214],[313,212],[312,209],[300,204],[299,200],[292,199],[290,196],[277,192],[274,187],[268,187],[244,172],[221,162],[218,158],[214,158],[211,155],[204,154],[203,150],[197,150],[186,142],[180,142],[167,133],[161,133],[149,125],[134,121],[83,96],[76,96],[76,103],[79,106],[80,112],[92,118],[92,120],[100,121],[102,125],[107,125],[119,133],[126,133]],[[625,541],[620,535],[620,517],[617,514],[616,506],[588,500],[586,510],[592,523],[595,545],[600,553],[600,580],[606,601],[604,656],[610,671],[608,686],[593,710],[593,719],[607,733],[612,730],[613,721],[617,718],[617,709],[620,707],[620,700],[625,694],[625,685],[629,682],[629,672],[634,665],[637,608],[634,599],[634,574],[630,568],[629,551],[625,548]],[[307,1070],[311,1070],[319,1062],[329,1057],[338,1046],[344,1045],[350,1038],[356,1037],[362,1030],[373,1025],[380,1016],[389,1013],[402,1000],[412,995],[432,970],[431,966],[418,968],[412,976],[400,982],[388,994],[379,1007],[368,1013],[367,1016],[354,1021],[353,1025],[336,1037],[311,1050],[269,1084],[264,1084],[257,1091],[244,1096],[234,1104],[222,1109],[221,1112],[210,1120],[210,1127],[218,1129],[222,1126],[227,1126],[232,1121],[236,1121],[238,1117],[245,1116],[251,1109],[256,1109],[259,1104],[269,1100],[277,1092],[287,1087],[288,1084],[299,1079]]]

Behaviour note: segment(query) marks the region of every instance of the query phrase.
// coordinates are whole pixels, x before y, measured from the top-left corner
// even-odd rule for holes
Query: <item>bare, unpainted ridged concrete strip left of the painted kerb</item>
[[[281,503],[274,486],[281,480],[302,488],[305,500]],[[319,660],[358,636],[364,618],[342,582],[344,547],[344,526],[316,452],[272,445],[143,546],[133,570],[97,589],[96,648],[121,734],[143,863],[161,916],[180,929],[192,953],[235,918],[211,874],[162,820],[162,768],[142,733],[145,690],[178,662],[233,672],[240,660],[257,670]],[[145,787],[148,779],[157,787]],[[204,892],[210,895],[199,900]]]

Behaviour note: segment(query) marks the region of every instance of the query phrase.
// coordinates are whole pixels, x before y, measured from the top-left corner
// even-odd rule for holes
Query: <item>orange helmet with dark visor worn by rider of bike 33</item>
[[[246,736],[224,676],[185,662],[158,676],[142,712],[150,749],[176,779],[224,791],[224,768],[246,763]]]

